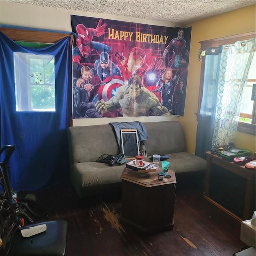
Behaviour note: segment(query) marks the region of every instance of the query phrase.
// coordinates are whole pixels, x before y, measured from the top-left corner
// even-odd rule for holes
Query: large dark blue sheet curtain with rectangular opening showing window
[[[56,112],[16,112],[14,52],[54,55]],[[1,146],[17,147],[10,159],[10,183],[20,191],[65,182],[68,177],[66,129],[71,112],[70,37],[34,49],[19,46],[0,32],[0,56]]]

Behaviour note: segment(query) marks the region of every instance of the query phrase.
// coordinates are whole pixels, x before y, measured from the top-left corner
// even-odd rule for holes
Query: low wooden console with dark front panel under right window
[[[255,211],[255,170],[206,152],[204,198],[238,221]]]

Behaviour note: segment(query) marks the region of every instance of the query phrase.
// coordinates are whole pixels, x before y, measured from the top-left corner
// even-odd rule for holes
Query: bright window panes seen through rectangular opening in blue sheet
[[[53,55],[14,52],[16,111],[55,111]]]

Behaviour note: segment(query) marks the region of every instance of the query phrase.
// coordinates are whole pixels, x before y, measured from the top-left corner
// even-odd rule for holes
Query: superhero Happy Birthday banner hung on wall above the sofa
[[[134,98],[130,94],[129,106],[133,111],[126,109],[125,117],[184,115],[191,27],[171,28],[75,15],[71,15],[71,26],[74,33],[73,119],[124,117],[122,107],[105,106],[112,103],[118,88],[128,84],[130,93],[139,89],[143,94],[134,94],[137,95]],[[90,79],[83,81],[81,70],[85,66]],[[172,90],[163,87],[167,70],[172,72],[169,82]],[[144,89],[131,84],[134,76]],[[181,80],[186,84],[183,93],[174,96]],[[127,90],[118,90],[118,99],[127,93]],[[178,111],[177,102],[183,111]],[[143,112],[142,106],[150,106],[154,111],[145,108]]]

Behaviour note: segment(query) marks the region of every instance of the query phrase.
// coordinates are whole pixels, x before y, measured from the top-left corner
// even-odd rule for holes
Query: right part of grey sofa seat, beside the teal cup
[[[166,160],[170,162],[169,169],[174,170],[176,174],[182,172],[197,172],[206,170],[206,160],[192,153],[179,152],[166,155],[170,157]],[[149,158],[150,157],[146,158],[145,160]],[[148,162],[152,161],[149,160]]]

